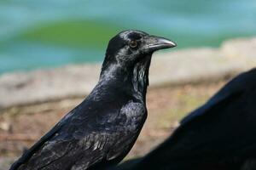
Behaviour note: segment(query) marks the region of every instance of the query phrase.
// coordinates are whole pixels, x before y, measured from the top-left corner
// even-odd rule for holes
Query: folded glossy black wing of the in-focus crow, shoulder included
[[[64,117],[57,125],[59,130],[50,133],[48,138],[43,137],[44,141],[35,144],[37,147],[28,150],[11,169],[87,169],[100,162],[107,166],[119,156],[122,159],[137,139],[145,108],[131,102],[107,112],[98,116],[88,114],[89,117],[84,116],[86,114],[67,116],[66,120]],[[130,116],[127,117],[127,113]],[[62,122],[65,124],[61,125]]]

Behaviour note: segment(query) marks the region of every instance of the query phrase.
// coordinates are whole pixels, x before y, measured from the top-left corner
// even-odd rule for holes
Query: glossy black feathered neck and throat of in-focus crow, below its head
[[[143,57],[135,65],[122,65],[120,62],[103,63],[99,83],[111,83],[131,92],[136,98],[146,99],[148,71],[151,55]]]

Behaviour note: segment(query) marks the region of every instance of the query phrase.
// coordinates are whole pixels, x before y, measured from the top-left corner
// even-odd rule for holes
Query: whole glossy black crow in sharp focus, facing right
[[[10,169],[101,169],[121,161],[147,117],[151,56],[175,46],[143,31],[122,31],[113,37],[96,88]]]

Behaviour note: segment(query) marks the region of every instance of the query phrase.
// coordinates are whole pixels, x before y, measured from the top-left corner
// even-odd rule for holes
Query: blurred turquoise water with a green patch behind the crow
[[[171,37],[178,48],[256,35],[255,0],[1,0],[0,74],[101,61],[125,29]]]

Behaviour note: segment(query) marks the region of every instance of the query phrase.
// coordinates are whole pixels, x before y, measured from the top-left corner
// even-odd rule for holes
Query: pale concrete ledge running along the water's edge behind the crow
[[[154,54],[150,88],[215,80],[256,65],[256,37],[224,42],[220,48],[191,48]],[[101,64],[67,65],[49,70],[6,73],[0,76],[0,111],[15,105],[81,97],[90,93]]]

